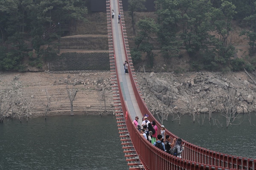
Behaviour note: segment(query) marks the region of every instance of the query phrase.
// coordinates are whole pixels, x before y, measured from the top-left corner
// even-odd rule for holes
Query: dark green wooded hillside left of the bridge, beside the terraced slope
[[[88,0],[1,0],[0,70],[26,71],[28,64],[41,68],[56,56],[58,25],[76,26],[85,21]],[[52,27],[49,32],[45,32]],[[58,42],[58,41],[57,41]],[[32,50],[34,49],[34,50]]]

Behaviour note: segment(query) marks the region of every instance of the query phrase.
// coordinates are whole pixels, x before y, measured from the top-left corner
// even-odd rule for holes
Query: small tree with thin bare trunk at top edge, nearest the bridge
[[[131,24],[133,27],[133,35],[136,35],[136,31],[135,31],[135,12],[138,10],[145,10],[145,5],[143,3],[145,3],[146,0],[128,0],[128,14],[131,17]]]

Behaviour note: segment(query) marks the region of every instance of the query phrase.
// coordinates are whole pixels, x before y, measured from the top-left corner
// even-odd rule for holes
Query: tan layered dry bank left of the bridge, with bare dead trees
[[[18,80],[14,80],[15,76],[19,77]],[[72,85],[79,81],[84,83]],[[102,84],[106,89],[105,100],[108,111],[104,114],[112,114],[113,94],[110,87],[110,72],[85,72],[82,74],[51,74],[49,72],[0,73],[0,93],[3,93],[6,88],[13,89],[19,93],[20,100],[27,99],[32,101],[32,117],[44,114],[41,100],[47,101],[46,89],[48,94],[52,96],[49,114],[69,114],[70,102],[67,88],[79,90],[73,102],[75,114],[101,114],[105,109],[104,101],[102,100]]]

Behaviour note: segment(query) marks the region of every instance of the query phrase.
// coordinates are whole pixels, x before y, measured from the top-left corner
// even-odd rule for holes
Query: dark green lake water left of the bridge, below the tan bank
[[[114,116],[55,116],[0,124],[4,170],[128,169]],[[1,169],[0,168],[0,169]]]

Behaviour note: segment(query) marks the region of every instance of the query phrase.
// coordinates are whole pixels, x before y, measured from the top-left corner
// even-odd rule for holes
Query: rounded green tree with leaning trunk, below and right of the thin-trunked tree
[[[135,38],[136,49],[134,53],[138,51],[146,53],[146,59],[149,65],[152,67],[154,65],[154,53],[153,45],[149,42],[151,40],[151,35],[158,31],[157,24],[152,18],[144,18],[143,20],[138,21],[138,35]]]

